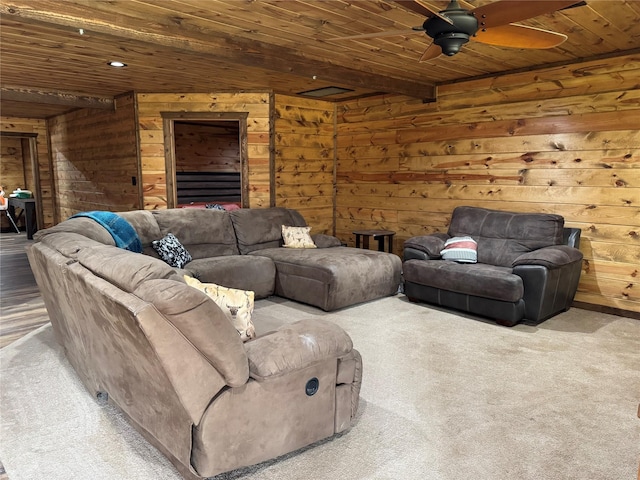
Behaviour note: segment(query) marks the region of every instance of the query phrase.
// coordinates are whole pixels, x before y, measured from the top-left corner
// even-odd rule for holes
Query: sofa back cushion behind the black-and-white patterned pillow
[[[194,260],[238,254],[236,236],[228,212],[173,208],[154,210],[153,215],[160,229],[160,236],[153,240],[159,240],[167,233],[172,233]]]

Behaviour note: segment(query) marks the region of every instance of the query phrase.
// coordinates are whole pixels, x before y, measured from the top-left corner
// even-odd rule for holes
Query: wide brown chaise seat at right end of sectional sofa
[[[276,266],[275,293],[330,311],[398,291],[400,257],[351,247],[257,250]]]

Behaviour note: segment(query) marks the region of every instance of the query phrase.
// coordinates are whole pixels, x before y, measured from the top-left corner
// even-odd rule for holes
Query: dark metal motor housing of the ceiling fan
[[[448,56],[455,55],[460,51],[460,47],[469,41],[469,37],[478,31],[478,20],[462,8],[448,8],[440,14],[450,18],[453,25],[434,16],[427,19],[422,27],[427,35],[433,38],[434,43],[440,46],[442,53]]]

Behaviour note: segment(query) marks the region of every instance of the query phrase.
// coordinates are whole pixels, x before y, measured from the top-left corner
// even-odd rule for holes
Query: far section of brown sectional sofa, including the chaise
[[[282,225],[306,225],[292,209],[120,215],[134,226],[146,254],[157,257],[151,242],[171,232],[193,257],[185,273],[201,282],[253,290],[256,298],[276,294],[330,311],[393,295],[402,281],[396,255],[343,247],[328,235],[313,236],[317,249],[282,248]]]

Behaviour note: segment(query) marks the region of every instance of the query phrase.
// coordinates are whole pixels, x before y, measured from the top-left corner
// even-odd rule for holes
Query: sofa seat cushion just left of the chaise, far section
[[[256,298],[273,295],[275,290],[276,267],[266,257],[225,255],[199,258],[189,262],[185,270],[203,283],[252,290]]]

